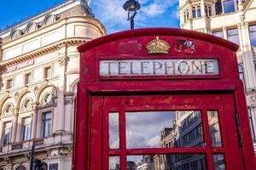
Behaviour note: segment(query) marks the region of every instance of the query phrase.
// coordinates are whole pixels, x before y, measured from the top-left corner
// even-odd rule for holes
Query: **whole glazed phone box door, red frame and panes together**
[[[152,96],[148,98],[149,104],[152,99],[154,105],[104,107],[104,169],[224,170],[241,165],[239,159],[236,159],[239,163],[234,161],[232,165],[231,131],[223,129],[227,123],[236,127],[235,119],[230,121],[230,108],[210,105],[214,99],[208,105],[188,106],[181,105],[182,102],[162,105],[160,98],[156,101]],[[197,99],[190,101],[200,104]],[[139,97],[131,100],[144,102]],[[216,100],[219,103],[219,98]],[[114,101],[119,102],[118,99]],[[157,105],[158,102],[161,105]],[[238,153],[234,136],[232,139],[234,143],[231,144]]]

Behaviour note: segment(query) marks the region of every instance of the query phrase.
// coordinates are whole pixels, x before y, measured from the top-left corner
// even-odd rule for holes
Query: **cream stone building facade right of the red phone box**
[[[251,132],[256,150],[256,1],[179,0],[180,26],[235,42],[244,82]]]

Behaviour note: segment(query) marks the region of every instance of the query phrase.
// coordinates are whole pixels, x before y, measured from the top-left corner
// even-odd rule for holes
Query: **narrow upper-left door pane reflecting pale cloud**
[[[108,144],[110,149],[119,149],[119,113],[108,114]]]

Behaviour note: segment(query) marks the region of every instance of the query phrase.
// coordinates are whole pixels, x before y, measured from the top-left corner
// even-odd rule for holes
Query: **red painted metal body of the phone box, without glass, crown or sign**
[[[156,36],[171,46],[169,54],[148,55],[146,45]],[[195,52],[173,50],[177,40],[195,44]],[[218,37],[195,31],[148,28],[123,31],[80,46],[80,82],[74,138],[74,169],[108,169],[108,156],[147,153],[205,153],[213,169],[212,153],[224,153],[227,169],[255,169],[247,106],[236,61],[238,46]],[[100,77],[101,59],[218,59],[217,76]],[[125,147],[125,111],[196,108],[202,111],[207,147],[185,149],[137,149]],[[188,109],[183,108],[183,109]],[[147,110],[147,109],[146,109]],[[218,110],[223,148],[210,147],[207,111]],[[120,149],[108,149],[108,111],[119,112]],[[241,144],[236,113],[241,127]]]

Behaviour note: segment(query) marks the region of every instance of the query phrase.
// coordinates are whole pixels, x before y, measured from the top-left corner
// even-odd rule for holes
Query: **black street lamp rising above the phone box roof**
[[[124,4],[123,8],[128,12],[128,19],[131,20],[131,29],[134,29],[134,17],[137,14],[137,10],[141,8],[141,4],[136,0],[128,0]]]

